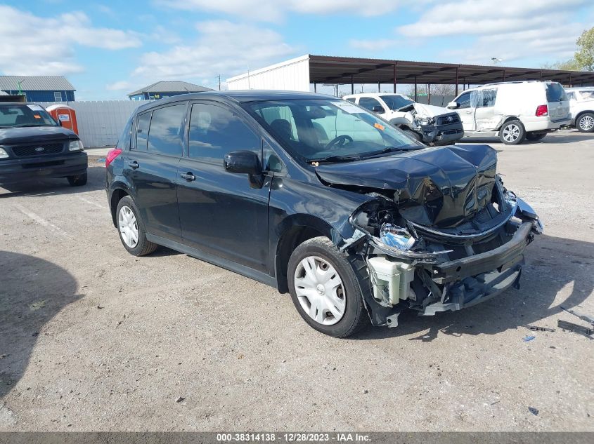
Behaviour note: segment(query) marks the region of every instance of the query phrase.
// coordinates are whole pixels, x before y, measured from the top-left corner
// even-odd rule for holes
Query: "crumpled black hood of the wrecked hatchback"
[[[491,201],[497,168],[489,145],[432,147],[393,156],[323,164],[328,184],[396,191],[403,217],[427,227],[455,227]]]

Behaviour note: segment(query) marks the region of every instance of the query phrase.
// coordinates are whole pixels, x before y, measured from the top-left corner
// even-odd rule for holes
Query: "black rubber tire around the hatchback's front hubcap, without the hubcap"
[[[309,256],[320,257],[324,261],[327,261],[334,267],[342,281],[342,295],[344,295],[345,305],[344,314],[340,318],[340,321],[333,325],[324,325],[311,318],[302,307],[295,292],[295,271],[299,263]],[[289,259],[287,280],[291,299],[299,315],[301,315],[306,323],[319,332],[333,337],[347,337],[368,325],[369,316],[363,304],[361,287],[357,281],[354,269],[349,263],[349,257],[346,253],[340,253],[330,239],[316,237],[298,245]]]

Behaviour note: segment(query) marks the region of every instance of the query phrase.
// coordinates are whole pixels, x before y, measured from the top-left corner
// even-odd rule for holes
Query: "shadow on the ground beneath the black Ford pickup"
[[[71,187],[66,178],[39,179],[18,184],[0,185],[0,199],[9,199],[16,196],[48,196],[53,194],[76,194],[85,191],[105,189],[105,167],[98,163],[93,165],[89,160],[86,170],[88,180],[82,187]],[[4,190],[6,191],[4,191]],[[4,192],[3,192],[4,191]]]

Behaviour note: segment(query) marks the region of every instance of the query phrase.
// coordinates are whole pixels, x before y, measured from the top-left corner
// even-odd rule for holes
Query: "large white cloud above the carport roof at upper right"
[[[591,26],[571,22],[572,13],[584,5],[591,0],[564,0],[562,5],[558,0],[441,0],[396,32],[427,45],[442,36],[467,36],[467,43],[441,51],[450,61],[490,65],[491,57],[497,57],[506,65],[526,58],[562,60],[573,55],[577,37]]]

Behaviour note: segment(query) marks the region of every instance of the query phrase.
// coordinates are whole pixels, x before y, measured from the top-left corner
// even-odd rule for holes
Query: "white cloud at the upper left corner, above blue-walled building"
[[[64,75],[82,72],[72,46],[117,50],[141,46],[133,32],[93,27],[80,12],[42,18],[0,5],[0,70],[4,74]]]

